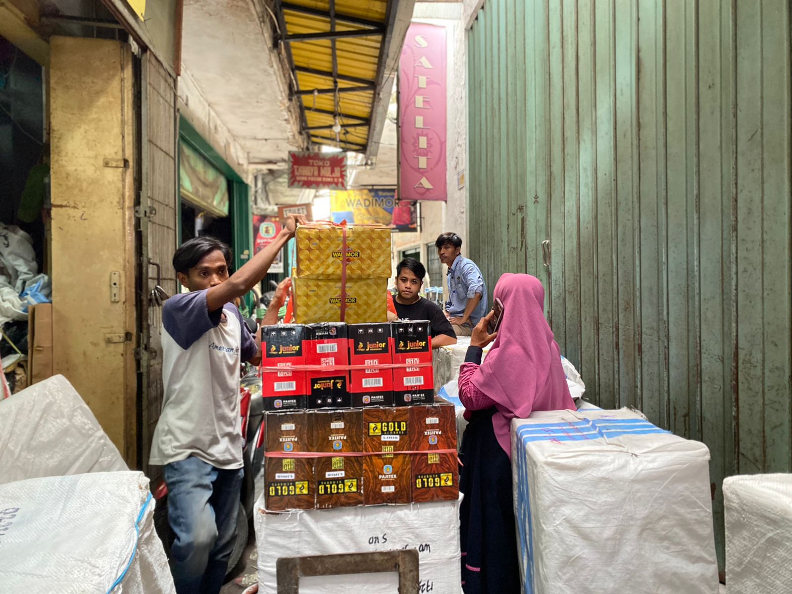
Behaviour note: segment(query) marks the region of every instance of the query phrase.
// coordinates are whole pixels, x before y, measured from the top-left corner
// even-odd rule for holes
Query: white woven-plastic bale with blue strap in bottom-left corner
[[[143,473],[0,485],[0,518],[3,592],[176,592]]]

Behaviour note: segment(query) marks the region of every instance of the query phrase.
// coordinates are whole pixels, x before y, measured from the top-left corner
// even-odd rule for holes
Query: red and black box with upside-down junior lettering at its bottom
[[[307,371],[307,408],[341,409],[352,406],[349,372],[329,367],[349,364],[347,325],[343,322],[308,324],[303,349],[307,365],[322,365],[326,371]]]

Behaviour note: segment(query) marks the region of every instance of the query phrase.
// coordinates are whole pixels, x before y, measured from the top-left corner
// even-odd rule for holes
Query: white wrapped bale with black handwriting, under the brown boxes
[[[459,503],[256,512],[260,594],[277,591],[276,562],[281,557],[417,549],[420,592],[461,592]],[[396,573],[300,578],[300,594],[377,592],[396,594]]]

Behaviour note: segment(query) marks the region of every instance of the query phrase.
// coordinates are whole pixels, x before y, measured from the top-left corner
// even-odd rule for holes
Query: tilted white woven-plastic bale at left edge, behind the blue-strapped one
[[[108,470],[128,468],[63,375],[0,400],[0,484]]]

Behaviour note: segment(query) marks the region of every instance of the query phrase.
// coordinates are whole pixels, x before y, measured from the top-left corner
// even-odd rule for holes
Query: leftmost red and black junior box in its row
[[[261,329],[261,364],[263,367],[304,365],[305,326],[281,324]],[[265,371],[261,378],[261,395],[265,410],[304,409],[307,394],[305,371]]]

